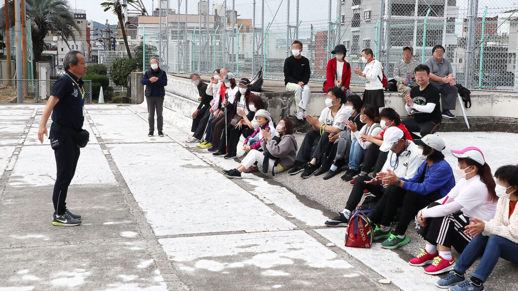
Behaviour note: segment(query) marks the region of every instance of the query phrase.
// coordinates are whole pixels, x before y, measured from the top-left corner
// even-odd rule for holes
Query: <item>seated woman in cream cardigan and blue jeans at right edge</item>
[[[458,258],[453,271],[437,282],[441,288],[451,291],[482,291],[484,282],[496,266],[499,258],[518,264],[518,165],[507,165],[495,172],[496,195],[499,197],[494,219],[482,221],[472,218],[466,226],[466,234],[473,239]],[[482,255],[477,269],[469,280],[464,273]],[[462,283],[461,283],[462,282]],[[457,285],[455,285],[457,284]]]

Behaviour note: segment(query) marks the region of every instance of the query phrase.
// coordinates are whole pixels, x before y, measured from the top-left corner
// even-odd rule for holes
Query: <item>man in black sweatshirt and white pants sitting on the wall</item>
[[[295,40],[292,43],[292,56],[284,60],[284,84],[286,91],[295,93],[295,104],[297,105],[297,118],[303,120],[306,117],[306,106],[308,105],[309,76],[311,68],[309,60],[302,56],[302,42]]]

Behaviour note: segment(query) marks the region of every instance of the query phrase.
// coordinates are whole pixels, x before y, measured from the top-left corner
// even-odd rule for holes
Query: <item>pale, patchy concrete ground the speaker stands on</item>
[[[164,113],[166,137],[147,137],[141,105],[87,106],[91,141],[67,199],[83,224],[52,226],[42,109],[0,106],[0,290],[439,290],[439,277],[407,263],[416,236],[396,252],[360,250],[343,246],[343,228],[323,226],[350,191],[339,177],[228,180],[221,170],[237,162],[185,143],[174,112]],[[516,163],[501,155],[516,135],[444,138],[482,148],[493,169]],[[517,270],[500,260],[486,289],[518,289]]]

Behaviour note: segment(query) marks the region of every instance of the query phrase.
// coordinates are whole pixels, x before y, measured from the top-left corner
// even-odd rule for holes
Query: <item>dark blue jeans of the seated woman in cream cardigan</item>
[[[478,256],[482,255],[473,277],[485,282],[496,266],[499,258],[518,264],[518,243],[499,236],[474,237],[462,252],[455,265],[455,271],[464,274],[473,265]]]

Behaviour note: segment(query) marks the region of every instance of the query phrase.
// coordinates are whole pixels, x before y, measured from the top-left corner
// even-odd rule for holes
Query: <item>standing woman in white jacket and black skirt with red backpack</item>
[[[374,59],[371,49],[362,51],[362,62],[367,63],[365,69],[355,68],[354,72],[362,81],[365,81],[365,91],[363,92],[363,103],[371,104],[377,108],[376,116],[380,115],[379,108],[385,107],[385,96],[383,95],[383,67],[381,63]]]

